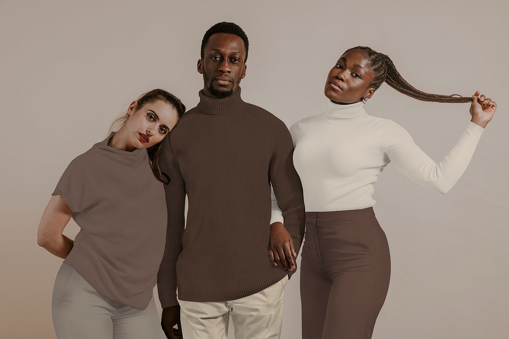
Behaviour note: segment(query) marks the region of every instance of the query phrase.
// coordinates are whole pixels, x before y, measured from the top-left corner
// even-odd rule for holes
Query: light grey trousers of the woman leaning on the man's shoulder
[[[111,301],[66,264],[56,274],[51,310],[58,339],[165,338],[154,297],[143,311]]]

